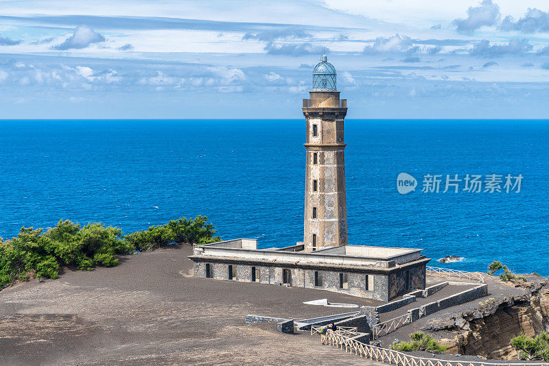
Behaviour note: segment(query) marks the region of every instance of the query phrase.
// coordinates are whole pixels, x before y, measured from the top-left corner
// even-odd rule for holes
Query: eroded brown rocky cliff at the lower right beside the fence
[[[513,337],[521,332],[533,337],[549,330],[549,279],[526,278],[527,282],[513,280],[491,286],[500,291],[493,291],[474,309],[449,319],[435,319],[423,329],[448,345],[448,353],[516,360],[517,353],[511,346]]]

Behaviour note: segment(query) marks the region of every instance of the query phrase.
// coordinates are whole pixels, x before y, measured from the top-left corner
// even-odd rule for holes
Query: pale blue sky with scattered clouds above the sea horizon
[[[546,0],[0,0],[0,118],[549,117]]]

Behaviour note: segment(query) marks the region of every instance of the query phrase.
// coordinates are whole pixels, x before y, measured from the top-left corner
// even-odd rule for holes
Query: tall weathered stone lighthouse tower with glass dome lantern
[[[347,99],[340,99],[336,69],[326,55],[313,71],[313,88],[303,99],[305,150],[305,250],[347,244],[347,202],[343,122]]]

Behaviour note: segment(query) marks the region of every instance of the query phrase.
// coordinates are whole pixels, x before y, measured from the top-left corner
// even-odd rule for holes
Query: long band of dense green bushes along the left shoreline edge
[[[8,240],[0,238],[0,289],[16,280],[58,278],[60,268],[90,270],[118,265],[119,254],[132,254],[167,245],[220,241],[207,217],[177,219],[148,230],[122,235],[121,229],[102,223],[81,226],[60,220],[56,227],[21,228]]]

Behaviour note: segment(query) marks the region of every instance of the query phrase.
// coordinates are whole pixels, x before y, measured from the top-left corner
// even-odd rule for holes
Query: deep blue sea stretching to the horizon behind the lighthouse
[[[431,265],[549,275],[549,121],[345,121],[349,243]],[[303,240],[305,121],[0,121],[0,236],[59,219],[124,232],[206,215],[222,239]],[[418,181],[407,195],[397,175]],[[443,193],[446,175],[522,174],[519,193]],[[442,175],[423,193],[425,175]],[[484,186],[482,187],[484,190]],[[440,265],[447,254],[462,262]]]

